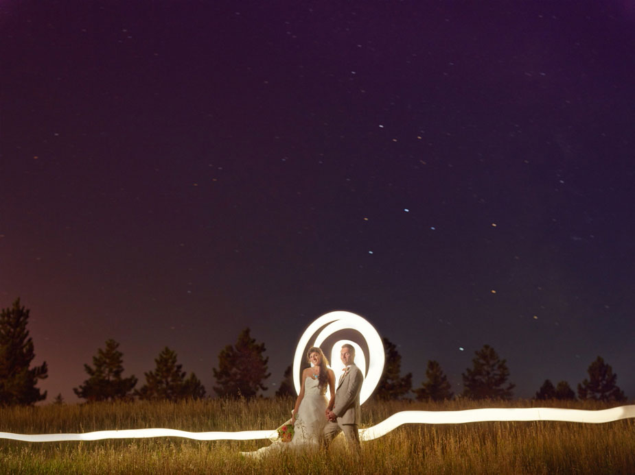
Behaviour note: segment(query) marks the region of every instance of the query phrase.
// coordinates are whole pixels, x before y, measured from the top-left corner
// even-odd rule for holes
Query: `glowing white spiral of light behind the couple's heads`
[[[295,358],[293,358],[293,385],[295,386],[295,391],[300,393],[300,365],[302,364],[305,356],[305,348],[308,346],[320,346],[327,337],[330,337],[331,334],[339,330],[357,330],[362,334],[366,340],[366,344],[368,345],[368,353],[371,357],[368,362],[368,373],[365,375],[364,385],[362,385],[362,391],[360,393],[360,404],[363,404],[373,393],[380,378],[382,377],[385,356],[384,345],[377,330],[375,330],[375,328],[369,324],[366,319],[356,315],[355,313],[336,310],[322,315],[308,326],[300,337],[300,341],[298,342],[298,346],[295,350]],[[309,345],[309,341],[311,341],[316,332],[319,332],[319,334],[315,337],[313,343]],[[356,344],[358,345],[358,343],[354,341],[345,341],[347,343],[353,343],[354,347]],[[358,348],[359,346],[356,347],[356,363],[359,358]],[[324,350],[324,348],[322,350]],[[336,348],[334,348],[334,350],[336,350]],[[333,359],[334,361],[331,363],[333,365],[337,365],[336,361],[340,361],[339,353],[337,354],[337,358]],[[341,367],[342,366],[340,365],[340,368]],[[337,373],[338,372],[336,372],[336,374]],[[336,378],[339,378],[339,376],[336,376]]]

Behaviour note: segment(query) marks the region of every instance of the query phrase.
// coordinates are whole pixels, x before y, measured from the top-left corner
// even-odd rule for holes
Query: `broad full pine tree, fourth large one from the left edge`
[[[269,358],[263,356],[264,343],[256,343],[245,328],[238,335],[235,347],[227,345],[218,354],[218,369],[213,368],[213,375],[218,382],[214,391],[221,397],[253,398],[259,390],[266,391],[263,381],[270,375],[267,373]]]

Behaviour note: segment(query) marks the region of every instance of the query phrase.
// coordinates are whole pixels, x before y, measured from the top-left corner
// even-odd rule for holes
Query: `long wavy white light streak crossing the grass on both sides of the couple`
[[[602,411],[532,407],[527,409],[468,409],[467,411],[402,411],[391,415],[376,426],[360,430],[360,439],[378,439],[404,424],[467,424],[470,422],[534,422],[559,421],[582,424],[605,424],[635,418],[635,405],[619,406]],[[195,440],[257,440],[270,439],[275,430],[244,430],[242,432],[186,432],[174,429],[100,430],[84,434],[12,434],[0,432],[0,439],[25,442],[92,441],[102,439],[143,439],[148,437],[183,437]]]

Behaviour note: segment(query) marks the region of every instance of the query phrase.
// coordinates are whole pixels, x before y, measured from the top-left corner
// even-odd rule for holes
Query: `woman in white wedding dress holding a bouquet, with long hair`
[[[322,350],[316,346],[309,348],[307,360],[312,366],[302,372],[302,385],[290,421],[294,429],[293,439],[289,442],[278,439],[270,446],[242,454],[259,458],[269,450],[319,447],[327,422],[326,411],[333,409],[335,402],[335,373],[328,367],[329,362]],[[327,387],[330,392],[328,402],[325,396]]]

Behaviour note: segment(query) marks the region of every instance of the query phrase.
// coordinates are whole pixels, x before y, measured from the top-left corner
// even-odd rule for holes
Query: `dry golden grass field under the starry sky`
[[[170,404],[45,405],[0,409],[0,432],[78,433],[106,429],[174,428],[209,430],[271,429],[288,418],[293,401],[206,400]],[[368,402],[362,426],[398,411],[456,411],[480,407],[553,406],[608,409],[593,402]],[[328,452],[280,454],[245,459],[268,441],[202,442],[180,438],[91,442],[25,443],[0,439],[0,472],[11,474],[133,473],[430,473],[430,474],[633,474],[635,420],[608,424],[566,422],[482,422],[408,425],[362,443],[351,459],[343,441]]]

